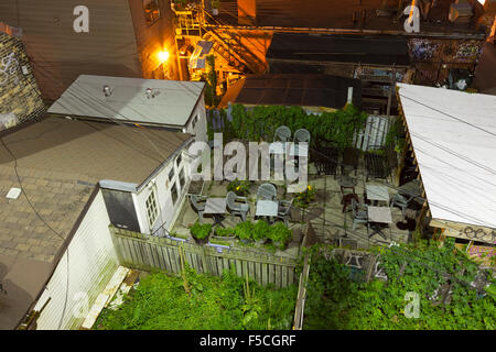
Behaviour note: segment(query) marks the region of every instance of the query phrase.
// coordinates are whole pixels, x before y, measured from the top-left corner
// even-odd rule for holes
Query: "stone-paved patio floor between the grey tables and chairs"
[[[358,157],[356,174],[355,170],[351,173],[351,177],[354,182],[353,184],[347,185],[346,180],[343,180],[341,175],[319,175],[317,168],[314,163],[311,162],[309,165],[309,185],[316,189],[315,199],[308,206],[308,208],[300,208],[293,204],[291,209],[291,219],[288,223],[289,229],[293,231],[293,238],[287,249],[284,251],[278,250],[277,254],[289,256],[296,255],[303,237],[303,231],[309,222],[314,228],[319,240],[323,243],[335,244],[338,246],[349,246],[352,249],[368,249],[370,245],[389,244],[391,241],[397,243],[406,243],[409,240],[410,231],[405,229],[406,226],[401,224],[406,223],[405,219],[414,219],[417,211],[406,209],[406,213],[403,213],[398,207],[389,208],[390,200],[398,193],[397,188],[390,183],[390,180],[370,176],[369,169],[367,169],[366,166],[366,158],[360,155]],[[339,169],[341,167],[337,167],[337,173],[339,173]],[[250,206],[248,212],[249,221],[259,219],[258,217],[254,219],[254,217],[256,217],[257,211],[257,190],[263,183],[265,182],[250,183],[249,194],[247,195],[247,201]],[[283,182],[271,183],[277,186],[277,200],[291,200],[295,197],[295,194],[287,193]],[[225,198],[228,193],[228,184],[229,182],[227,180],[205,182],[202,189],[202,196],[207,198]],[[365,199],[367,198],[366,185],[373,185],[368,193],[369,199]],[[374,187],[374,185],[379,187]],[[195,188],[195,191],[200,189],[197,185],[193,186],[193,188]],[[386,219],[386,222],[391,223],[382,229],[382,227],[375,227],[377,223],[373,223],[369,219],[368,221],[366,220],[365,222],[356,223],[355,229],[353,229],[354,216],[352,205],[349,204],[343,212],[344,205],[342,204],[343,196],[353,195],[353,193],[356,196],[351,196],[351,198],[356,197],[360,206],[364,204],[369,204],[369,206],[373,206],[369,208],[369,217],[371,217],[371,212],[374,210],[379,210],[379,212],[381,212],[381,215],[379,213],[379,218],[384,216],[385,212],[387,218],[389,210],[386,209],[390,209],[390,219]],[[379,199],[384,200],[380,201]],[[191,239],[188,227],[195,223],[197,219],[198,215],[193,209],[191,201],[184,202],[181,215],[179,216],[172,232],[177,237]],[[377,219],[373,220],[377,221]],[[380,221],[382,220],[379,220],[379,222]],[[214,217],[204,215],[203,223],[214,224]],[[226,212],[225,219],[223,220],[223,226],[235,227],[239,222],[241,222],[240,217],[235,216],[233,218],[229,212]],[[400,228],[398,228],[398,223],[400,223]],[[369,234],[374,233],[377,229],[379,229],[379,231],[376,231],[374,235],[369,237]],[[237,246],[244,244],[239,244],[238,241],[233,241],[230,245]],[[260,248],[260,245],[257,246]]]

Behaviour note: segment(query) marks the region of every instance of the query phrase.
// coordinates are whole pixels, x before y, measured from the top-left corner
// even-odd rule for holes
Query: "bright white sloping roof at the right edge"
[[[398,87],[432,218],[496,228],[496,96]]]

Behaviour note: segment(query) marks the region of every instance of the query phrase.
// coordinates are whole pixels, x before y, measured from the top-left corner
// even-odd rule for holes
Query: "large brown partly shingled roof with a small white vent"
[[[8,294],[0,293],[0,329],[13,329],[50,278],[98,182],[139,185],[191,135],[47,118],[0,138],[17,160],[1,143],[0,280]],[[6,197],[12,188],[23,189],[19,198]]]

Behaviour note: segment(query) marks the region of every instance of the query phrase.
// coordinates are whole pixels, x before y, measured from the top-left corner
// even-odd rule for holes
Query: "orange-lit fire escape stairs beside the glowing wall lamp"
[[[190,58],[191,48],[200,41],[213,43],[216,56],[222,57],[226,66],[224,72],[247,74],[263,74],[267,64],[254,54],[241,41],[241,35],[235,29],[229,29],[204,8],[191,7],[175,11],[175,36],[180,48],[180,58]],[[181,47],[183,50],[181,50]],[[190,52],[187,48],[190,47]]]

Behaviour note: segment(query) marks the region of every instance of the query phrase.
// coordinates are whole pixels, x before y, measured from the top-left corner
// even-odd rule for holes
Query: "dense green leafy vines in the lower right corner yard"
[[[477,264],[454,248],[449,239],[442,248],[420,242],[379,249],[388,280],[354,282],[351,270],[317,253],[312,255],[305,302],[305,329],[489,329],[496,328],[496,300],[484,297],[471,283]],[[402,273],[400,268],[403,267]],[[452,300],[433,305],[429,299],[443,273],[452,275]],[[490,289],[489,289],[490,290]],[[420,317],[407,318],[408,292],[420,296]]]

